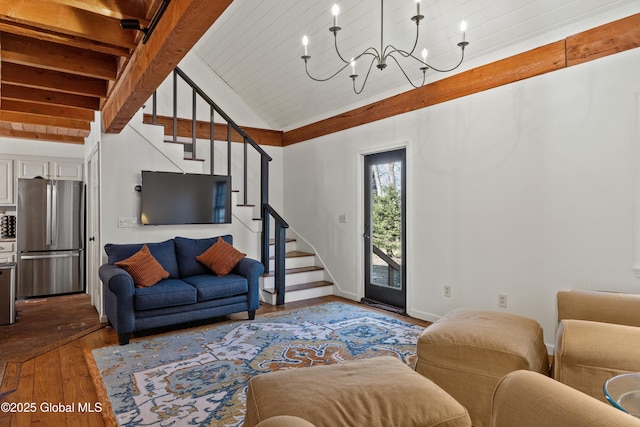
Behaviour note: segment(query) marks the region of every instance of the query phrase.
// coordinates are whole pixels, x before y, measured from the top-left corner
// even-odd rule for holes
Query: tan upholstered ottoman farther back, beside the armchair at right
[[[418,339],[416,371],[466,407],[475,427],[490,425],[498,381],[519,369],[549,374],[542,328],[533,319],[455,309]]]

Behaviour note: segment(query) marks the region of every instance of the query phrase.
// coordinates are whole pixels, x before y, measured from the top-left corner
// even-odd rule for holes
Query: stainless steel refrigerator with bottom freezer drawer
[[[18,298],[84,290],[83,189],[79,181],[18,180]]]

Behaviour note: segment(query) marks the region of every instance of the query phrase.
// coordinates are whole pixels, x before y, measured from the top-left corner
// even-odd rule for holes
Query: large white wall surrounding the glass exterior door
[[[285,218],[359,299],[362,156],[406,146],[409,314],[504,310],[503,293],[553,344],[558,290],[640,289],[638,75],[635,49],[289,146]]]

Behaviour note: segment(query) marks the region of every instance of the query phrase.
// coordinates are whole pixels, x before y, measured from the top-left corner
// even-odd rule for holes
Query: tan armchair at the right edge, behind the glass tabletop
[[[640,295],[561,291],[553,378],[606,402],[604,383],[640,371]]]

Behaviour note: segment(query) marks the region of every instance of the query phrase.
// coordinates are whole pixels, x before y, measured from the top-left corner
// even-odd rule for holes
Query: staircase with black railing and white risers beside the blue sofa
[[[178,78],[191,88],[191,119],[178,118]],[[261,280],[261,299],[272,305],[281,305],[285,302],[333,294],[333,283],[327,280],[328,273],[319,266],[322,264],[320,259],[298,239],[286,238],[289,225],[269,204],[269,162],[272,160],[271,157],[179,68],[173,72],[173,117],[165,118],[164,123],[160,123],[158,120],[157,97],[157,93],[154,93],[151,124],[164,125],[165,137],[170,137],[170,139],[165,139],[165,142],[182,146],[180,151],[182,151],[184,160],[196,161],[195,163],[205,162],[205,159],[198,158],[196,155],[196,148],[198,140],[208,142],[210,147],[209,173],[212,175],[216,173],[214,171],[216,163],[220,163],[214,161],[216,142],[226,142],[226,150],[224,150],[226,154],[222,157],[223,160],[226,160],[223,174],[231,176],[232,142],[238,141],[234,138],[240,138],[238,142],[241,142],[243,146],[242,170],[239,176],[234,176],[232,182],[234,186],[240,182],[242,188],[240,194],[237,192],[232,194],[233,217],[246,226],[247,232],[259,233],[260,235],[259,252],[261,262],[265,266],[265,274]],[[206,122],[197,120],[198,99],[205,101],[208,105],[209,120]],[[220,119],[222,123],[214,121],[214,117]],[[202,135],[203,131],[206,132],[206,136]],[[259,155],[259,167],[249,166],[249,150]],[[220,154],[222,153],[218,153],[218,155]],[[240,162],[235,164],[238,165]],[[260,177],[260,203],[257,206],[248,201],[249,173],[252,176],[258,174]],[[258,212],[254,212],[256,207]],[[273,236],[273,238],[270,240],[268,236]]]

